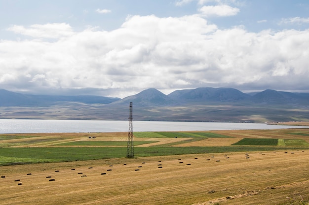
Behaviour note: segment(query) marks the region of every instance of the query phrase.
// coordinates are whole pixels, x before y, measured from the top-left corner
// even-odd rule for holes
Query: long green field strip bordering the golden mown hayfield
[[[282,146],[192,146],[192,147],[134,147],[135,157],[239,151],[270,151]],[[289,147],[299,149],[299,147]],[[68,162],[126,157],[126,147],[5,147],[0,148],[0,166],[30,163]]]

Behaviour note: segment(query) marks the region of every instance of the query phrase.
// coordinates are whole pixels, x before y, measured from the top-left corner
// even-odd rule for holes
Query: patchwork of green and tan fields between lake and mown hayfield
[[[309,129],[135,132],[134,155],[138,158],[286,148],[309,149],[308,136]],[[0,166],[122,158],[126,156],[126,138],[127,133],[3,134],[0,135]],[[240,140],[237,142],[233,139]],[[209,146],[209,142],[215,143]]]

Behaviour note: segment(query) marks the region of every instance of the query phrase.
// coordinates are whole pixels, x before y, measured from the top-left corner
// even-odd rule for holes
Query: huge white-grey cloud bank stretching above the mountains
[[[117,97],[146,88],[309,88],[309,29],[218,29],[199,15],[130,16],[112,31],[53,26],[9,29],[40,40],[0,41],[1,88]]]

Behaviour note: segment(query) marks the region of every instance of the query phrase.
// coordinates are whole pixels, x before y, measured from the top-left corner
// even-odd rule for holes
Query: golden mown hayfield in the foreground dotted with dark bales
[[[1,175],[6,176],[0,178],[1,205],[190,205],[209,201],[218,201],[220,205],[269,202],[285,205],[286,197],[298,192],[309,193],[308,163],[304,163],[308,162],[309,152],[249,152],[248,155],[249,159],[242,152],[4,168],[12,173],[5,173],[0,167]],[[27,175],[31,171],[28,166],[35,168],[31,176]],[[101,175],[103,172],[106,175]],[[46,176],[52,176],[55,181],[48,181]],[[18,186],[15,179],[20,179],[22,185]],[[211,190],[215,192],[208,193]],[[246,196],[251,191],[257,195]],[[227,200],[228,196],[243,197]]]

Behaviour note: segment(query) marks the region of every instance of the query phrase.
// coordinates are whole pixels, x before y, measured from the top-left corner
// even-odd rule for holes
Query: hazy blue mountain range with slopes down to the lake
[[[124,120],[133,102],[135,120],[308,121],[309,93],[267,89],[195,88],[165,95],[149,88],[125,98],[30,95],[0,89],[0,118]]]

